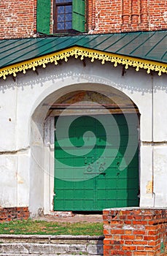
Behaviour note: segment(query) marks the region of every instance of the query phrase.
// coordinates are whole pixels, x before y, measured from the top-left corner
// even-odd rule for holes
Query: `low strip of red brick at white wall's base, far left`
[[[0,208],[0,222],[10,222],[14,219],[28,219],[28,207]]]

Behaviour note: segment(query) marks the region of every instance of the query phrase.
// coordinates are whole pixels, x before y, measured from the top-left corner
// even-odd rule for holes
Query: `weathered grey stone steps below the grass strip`
[[[101,256],[103,238],[103,236],[0,235],[0,256]]]

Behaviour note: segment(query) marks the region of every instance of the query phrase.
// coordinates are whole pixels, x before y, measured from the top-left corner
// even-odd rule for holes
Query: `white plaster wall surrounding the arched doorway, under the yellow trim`
[[[70,59],[57,67],[49,64],[45,69],[39,67],[37,70],[39,75],[28,71],[26,75],[18,74],[16,81],[12,78],[1,80],[0,172],[3,179],[0,181],[0,205],[14,206],[17,203],[19,206],[29,206],[31,214],[43,209],[47,213],[52,210],[52,157],[50,168],[48,161],[53,148],[44,143],[44,119],[50,108],[47,103],[52,104],[56,98],[71,90],[109,91],[115,88],[128,95],[141,113],[141,206],[152,206],[153,191],[148,192],[146,187],[153,175],[154,178],[158,176],[156,172],[159,166],[158,157],[155,157],[152,172],[152,140],[154,135],[157,142],[166,141],[164,124],[167,121],[162,121],[160,106],[152,106],[152,98],[157,102],[162,102],[163,97],[166,99],[166,75],[158,79],[157,75],[147,75],[144,70],[136,72],[131,68],[122,76],[121,66],[112,67],[112,64],[101,65],[99,61],[90,63],[86,60],[86,67],[83,67],[82,61],[78,59]],[[158,90],[152,97],[152,89],[156,85],[159,85]],[[159,115],[157,118],[154,118],[152,108],[154,116]],[[161,180],[165,182],[166,149],[163,146],[160,150],[164,164]],[[11,151],[15,151],[15,155],[10,156]],[[154,184],[156,193],[159,193],[160,181]],[[161,198],[166,193],[165,185],[163,190],[163,193],[159,193],[159,200],[155,200],[157,206],[158,202],[167,202],[166,197],[163,200]]]

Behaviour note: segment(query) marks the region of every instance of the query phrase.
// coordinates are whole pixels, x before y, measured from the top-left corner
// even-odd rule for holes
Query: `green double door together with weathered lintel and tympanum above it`
[[[55,118],[54,211],[139,206],[139,111],[122,92],[72,91]]]

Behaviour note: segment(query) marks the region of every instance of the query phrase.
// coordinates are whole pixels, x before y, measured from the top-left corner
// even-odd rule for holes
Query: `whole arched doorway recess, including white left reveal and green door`
[[[131,100],[131,95],[129,96],[128,94],[127,96],[123,91],[116,88],[117,86],[114,83],[113,86],[107,86],[103,83],[74,83],[55,90],[55,85],[53,84],[35,102],[30,129],[31,179],[29,208],[32,214],[40,214],[42,212],[50,214],[51,211],[58,211],[58,209],[62,211],[67,209],[69,211],[90,211],[90,209],[95,211],[106,208],[106,206],[109,208],[139,206],[139,198],[137,197],[139,192],[139,110]],[[120,116],[122,116],[122,120]],[[87,120],[84,121],[82,117]],[[72,122],[70,122],[71,118]],[[65,124],[61,128],[59,127],[60,129],[57,126],[58,120],[65,121]],[[109,125],[106,124],[107,121],[110,122]],[[84,145],[83,138],[85,138],[88,151],[86,151],[87,155],[82,154],[83,151],[81,150],[81,152],[76,153],[75,151],[73,154],[66,155],[66,158],[63,157],[63,159],[66,159],[65,164],[67,162],[67,166],[63,166],[64,171],[60,172],[58,169],[61,170],[61,167],[58,165],[64,164],[64,160],[60,161],[57,157],[58,151],[60,152],[62,148],[62,143],[61,145],[58,144],[66,142],[66,140],[59,140],[57,132],[59,130],[64,134],[64,128],[67,127],[68,122],[72,124],[72,126],[69,126],[69,132],[73,147],[80,151]],[[90,124],[91,122],[93,123],[93,128],[83,128],[82,124]],[[113,125],[111,122],[113,122]],[[121,125],[122,122],[124,122],[123,125]],[[72,134],[78,124],[80,126],[79,140],[77,140],[78,136]],[[88,133],[86,129],[90,130],[90,132]],[[109,132],[109,129],[112,132]],[[98,135],[97,131],[102,132],[102,135]],[[112,148],[113,155],[109,153],[109,157],[105,157],[104,154],[107,155],[109,152],[107,148],[109,148],[110,138],[114,138],[112,143],[114,143],[115,148]],[[108,143],[107,146],[105,146],[106,141]],[[78,142],[80,144],[77,144]],[[125,143],[125,145],[122,143]],[[59,146],[61,148],[58,148]],[[68,146],[66,144],[63,145],[63,149],[69,150]],[[61,151],[61,154],[63,151]],[[96,155],[96,153],[98,154]],[[134,155],[136,155],[136,160],[133,160]],[[97,158],[99,162],[97,162]],[[69,159],[71,164],[68,162]],[[106,165],[103,165],[104,162],[102,160]],[[79,161],[79,164],[77,161]],[[133,161],[135,162],[135,167],[133,167]],[[82,162],[84,162],[84,165],[82,165]],[[66,177],[66,175],[70,173],[69,170],[72,170],[73,173],[71,175],[76,176],[78,170],[74,168],[76,165],[77,167],[80,165],[79,170],[82,169],[82,180],[79,173],[78,180],[71,183],[71,176]],[[110,181],[113,181],[113,178],[108,176],[110,165],[112,170],[115,171],[110,172],[110,174],[115,173],[114,185],[116,188],[114,185],[111,187]],[[115,165],[115,167],[113,168],[112,165]],[[61,184],[62,182],[63,185]],[[120,183],[122,191],[119,189]],[[74,186],[69,187],[71,184],[74,184]],[[77,187],[85,189],[79,190]],[[70,197],[66,197],[65,194],[70,195]],[[81,197],[80,195],[83,196]],[[78,203],[84,202],[85,198],[87,199],[85,203],[88,203],[88,206],[79,208]],[[114,200],[112,200],[113,198]],[[63,202],[60,208],[58,207],[58,200],[60,203]],[[65,202],[67,201],[73,202],[76,206],[70,205],[70,207],[67,207],[66,204],[65,207]],[[93,204],[98,207],[93,206],[91,208]]]

